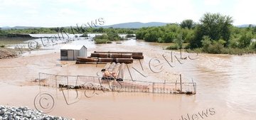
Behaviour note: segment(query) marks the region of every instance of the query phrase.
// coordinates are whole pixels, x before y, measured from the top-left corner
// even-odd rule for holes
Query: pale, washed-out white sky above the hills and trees
[[[0,0],[0,27],[61,27],[103,18],[104,26],[127,22],[198,22],[204,13],[256,24],[255,0]]]

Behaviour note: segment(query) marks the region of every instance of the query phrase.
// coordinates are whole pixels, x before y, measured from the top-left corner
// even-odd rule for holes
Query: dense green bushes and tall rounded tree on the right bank
[[[159,27],[140,28],[137,39],[148,42],[176,43],[175,47],[201,50],[205,53],[255,53],[256,26],[238,28],[233,18],[220,13],[205,13],[199,23],[191,19]],[[188,43],[182,46],[182,43]]]

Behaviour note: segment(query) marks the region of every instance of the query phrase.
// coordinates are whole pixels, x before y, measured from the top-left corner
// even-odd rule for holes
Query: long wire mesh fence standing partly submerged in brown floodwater
[[[39,85],[68,89],[91,89],[112,92],[149,92],[164,94],[196,94],[195,82],[117,81],[94,76],[52,75],[39,73]]]

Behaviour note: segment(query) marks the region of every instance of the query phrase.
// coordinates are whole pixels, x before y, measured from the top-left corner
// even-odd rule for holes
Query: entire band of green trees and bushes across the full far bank
[[[220,13],[205,13],[198,23],[186,19],[181,23],[145,28],[28,28],[1,30],[0,36],[10,33],[107,33],[101,39],[121,40],[117,33],[136,34],[136,38],[147,42],[175,43],[169,49],[187,48],[205,53],[256,53],[256,26],[238,28],[233,26],[233,18]],[[186,43],[186,44],[184,44]]]

